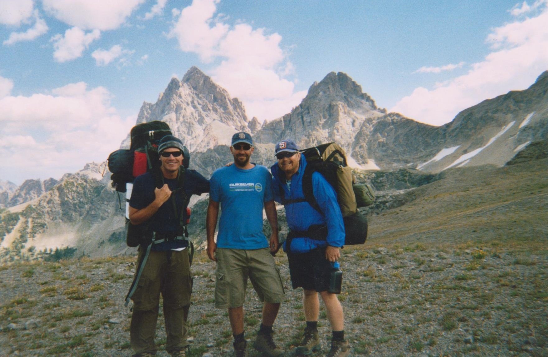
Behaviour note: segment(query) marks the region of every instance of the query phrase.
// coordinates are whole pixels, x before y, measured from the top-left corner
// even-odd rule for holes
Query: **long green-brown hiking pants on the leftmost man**
[[[138,261],[144,254],[139,249]],[[132,297],[133,314],[130,325],[130,342],[136,354],[156,353],[154,336],[160,293],[167,342],[165,350],[173,353],[188,346],[187,323],[189,316],[192,278],[189,253],[182,251],[151,251],[139,284]]]

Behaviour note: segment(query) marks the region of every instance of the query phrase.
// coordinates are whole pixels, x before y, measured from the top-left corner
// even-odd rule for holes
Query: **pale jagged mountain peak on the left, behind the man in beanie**
[[[242,102],[215,84],[197,67],[182,80],[172,78],[156,103],[144,102],[136,124],[162,120],[191,152],[230,142],[237,131],[249,130]],[[129,137],[122,147],[129,147]]]

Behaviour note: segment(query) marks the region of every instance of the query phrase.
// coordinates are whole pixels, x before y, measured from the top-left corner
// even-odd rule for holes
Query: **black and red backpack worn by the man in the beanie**
[[[167,123],[154,120],[149,123],[135,125],[130,131],[131,144],[129,149],[119,149],[109,155],[109,170],[112,172],[112,187],[118,192],[126,191],[126,183],[133,182],[135,177],[147,171],[157,172],[158,142],[165,135],[172,135]],[[183,166],[189,167],[190,153],[184,147]],[[159,180],[157,180],[157,186]]]

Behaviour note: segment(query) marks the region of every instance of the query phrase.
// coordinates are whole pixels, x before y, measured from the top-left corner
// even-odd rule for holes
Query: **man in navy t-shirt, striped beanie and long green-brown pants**
[[[135,179],[129,201],[131,224],[147,223],[154,232],[153,241],[139,247],[138,261],[144,263],[144,268],[131,296],[134,306],[130,339],[134,357],[156,354],[154,336],[160,293],[167,333],[165,350],[172,357],[184,357],[189,344],[186,341],[186,319],[192,279],[186,249],[189,242],[181,222],[186,221],[190,196],[209,192],[209,182],[195,170],[181,167],[183,152],[179,139],[172,135],[164,136],[158,145],[163,186],[157,188],[155,176],[147,172]]]

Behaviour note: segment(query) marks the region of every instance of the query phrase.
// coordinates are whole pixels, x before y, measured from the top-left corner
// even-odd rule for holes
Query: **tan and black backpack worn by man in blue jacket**
[[[312,192],[312,174],[319,172],[335,189],[337,200],[345,226],[345,245],[363,244],[367,239],[367,218],[363,216],[358,207],[373,203],[374,195],[372,188],[368,185],[354,185],[352,170],[347,164],[346,153],[337,143],[329,142],[311,148],[301,150],[306,158],[306,168],[302,175],[302,192],[304,200],[312,208],[321,212],[316,198]],[[355,192],[359,197],[370,194],[370,202],[359,199],[356,201]],[[283,190],[282,203],[284,203]],[[286,201],[287,202],[287,201]],[[322,239],[327,236],[327,227],[316,227],[316,232],[310,232],[311,238]]]

